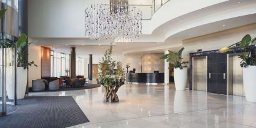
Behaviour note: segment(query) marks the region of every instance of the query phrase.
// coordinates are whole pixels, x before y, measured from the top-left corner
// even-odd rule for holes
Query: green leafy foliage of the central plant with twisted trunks
[[[99,82],[102,86],[121,86],[124,84],[125,73],[122,62],[113,61],[111,58],[112,46],[107,49],[99,62]]]

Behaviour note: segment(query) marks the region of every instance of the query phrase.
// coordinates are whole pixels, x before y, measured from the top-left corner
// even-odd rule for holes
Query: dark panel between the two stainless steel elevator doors
[[[227,54],[209,54],[207,71],[207,91],[217,94],[227,94]]]

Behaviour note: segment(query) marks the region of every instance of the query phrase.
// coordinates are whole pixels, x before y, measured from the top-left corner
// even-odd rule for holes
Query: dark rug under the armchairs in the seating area
[[[66,86],[61,86],[58,90],[55,91],[32,91],[32,89],[29,89],[29,92],[59,92],[59,91],[76,91],[76,90],[84,90],[84,89],[93,89],[96,87],[101,87],[99,84],[88,84],[86,83],[84,87],[66,87]]]

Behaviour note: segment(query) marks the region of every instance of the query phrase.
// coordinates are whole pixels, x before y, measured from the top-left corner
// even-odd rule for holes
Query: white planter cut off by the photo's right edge
[[[256,102],[256,66],[243,68],[243,82],[246,100]]]

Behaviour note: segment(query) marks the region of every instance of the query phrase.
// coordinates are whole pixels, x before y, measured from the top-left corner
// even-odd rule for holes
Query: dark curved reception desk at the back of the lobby
[[[164,73],[127,73],[127,82],[160,84],[164,83]]]

